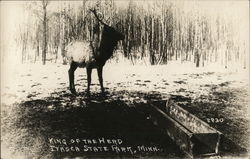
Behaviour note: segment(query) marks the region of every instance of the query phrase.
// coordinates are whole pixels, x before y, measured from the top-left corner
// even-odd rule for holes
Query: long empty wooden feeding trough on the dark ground
[[[221,132],[175,103],[149,104],[152,120],[190,157],[218,154]]]

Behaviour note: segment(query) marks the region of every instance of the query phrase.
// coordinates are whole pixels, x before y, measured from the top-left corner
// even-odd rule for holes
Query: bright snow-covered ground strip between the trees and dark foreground
[[[48,63],[23,64],[2,67],[1,97],[2,103],[11,104],[49,96],[53,92],[67,91],[68,65]],[[174,93],[199,96],[208,93],[202,85],[218,85],[230,82],[230,87],[249,87],[248,70],[229,70],[218,66],[195,68],[191,64],[145,66],[107,63],[103,71],[104,86],[113,90],[128,90],[162,94]],[[75,72],[75,84],[78,92],[85,91],[86,69]],[[96,70],[92,71],[91,91],[99,91]]]

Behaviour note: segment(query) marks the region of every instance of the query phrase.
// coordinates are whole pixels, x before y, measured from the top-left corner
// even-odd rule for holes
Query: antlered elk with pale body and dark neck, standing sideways
[[[100,45],[97,47],[97,53],[94,53],[93,46],[89,42],[75,41],[71,42],[66,47],[67,57],[69,58],[70,68],[69,74],[69,89],[72,94],[76,94],[74,84],[74,72],[78,67],[86,67],[87,70],[87,94],[90,92],[91,73],[92,69],[97,69],[98,79],[101,86],[101,92],[104,93],[103,87],[103,66],[106,61],[113,55],[114,49],[118,41],[124,40],[124,35],[116,31],[111,26],[104,23],[97,15],[96,10],[90,10],[98,23],[104,25],[101,34]]]

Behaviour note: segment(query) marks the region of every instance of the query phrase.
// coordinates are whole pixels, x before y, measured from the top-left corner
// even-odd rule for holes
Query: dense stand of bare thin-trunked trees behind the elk
[[[66,45],[89,41],[94,25],[90,8],[125,35],[114,56],[134,64],[190,61],[196,67],[220,63],[246,68],[248,39],[242,36],[240,15],[211,12],[205,2],[173,1],[36,1],[26,2],[27,17],[16,38],[22,63],[62,62]],[[202,8],[203,6],[203,8]],[[223,4],[221,4],[223,6]],[[218,7],[217,7],[218,8]],[[214,13],[213,13],[214,12]],[[246,33],[247,34],[247,33]]]

